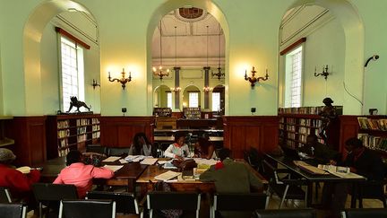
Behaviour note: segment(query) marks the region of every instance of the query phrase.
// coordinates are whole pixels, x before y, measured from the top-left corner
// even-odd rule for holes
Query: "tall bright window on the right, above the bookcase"
[[[286,54],[285,56],[285,92],[284,92],[284,106],[285,108],[297,108],[303,106],[303,83],[304,83],[304,46],[301,45],[295,49],[293,49],[291,52]],[[298,64],[299,74],[297,75],[297,82],[299,89],[298,89],[298,98],[297,100],[294,100],[294,90],[293,85],[295,85],[294,81],[294,68],[293,65],[294,58],[299,54],[300,63]]]

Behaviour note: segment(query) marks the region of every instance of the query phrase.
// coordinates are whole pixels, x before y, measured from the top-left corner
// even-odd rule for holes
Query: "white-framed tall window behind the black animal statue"
[[[60,75],[59,75],[59,81],[60,81],[60,108],[62,111],[67,111],[70,107],[70,96],[76,96],[78,100],[84,101],[85,99],[85,87],[84,87],[84,59],[83,59],[83,48],[80,47],[77,43],[73,42],[71,39],[67,39],[61,34],[58,34],[58,53],[59,53],[59,63],[60,63]],[[63,53],[63,47],[68,46],[70,49],[75,50],[75,58],[74,62],[67,62],[64,63],[64,53]],[[64,65],[70,65],[72,67],[73,75],[69,75],[70,77],[73,76],[70,83],[65,83],[64,79]],[[72,74],[72,73],[70,73]],[[76,78],[74,78],[74,74],[76,74]],[[67,81],[68,82],[68,81]],[[73,84],[72,84],[73,83]],[[66,87],[67,86],[67,87]],[[71,89],[72,91],[69,94],[66,94],[64,92],[64,89]],[[73,109],[72,109],[73,110]],[[82,111],[86,111],[86,109],[81,108]]]

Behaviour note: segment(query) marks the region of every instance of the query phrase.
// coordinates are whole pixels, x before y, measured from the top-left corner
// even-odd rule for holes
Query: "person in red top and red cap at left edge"
[[[14,199],[20,199],[32,206],[34,200],[31,185],[39,181],[40,171],[30,170],[29,174],[23,174],[11,165],[15,159],[11,150],[0,148],[0,187],[7,187]]]

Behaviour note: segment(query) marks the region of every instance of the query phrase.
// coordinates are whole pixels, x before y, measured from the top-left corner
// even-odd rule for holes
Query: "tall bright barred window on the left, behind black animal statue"
[[[83,49],[72,40],[61,36],[62,109],[70,108],[70,97],[84,100]],[[82,108],[83,109],[83,108]]]

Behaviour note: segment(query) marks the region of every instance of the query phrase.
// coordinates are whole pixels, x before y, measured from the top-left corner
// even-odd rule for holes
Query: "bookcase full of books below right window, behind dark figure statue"
[[[306,144],[306,136],[314,134],[318,136],[318,141],[322,144],[328,144],[331,147],[338,147],[340,135],[335,132],[339,131],[339,121],[331,122],[327,142],[319,136],[320,127],[322,126],[322,118],[319,113],[323,106],[319,107],[301,107],[301,108],[280,108],[279,109],[279,142],[281,146],[287,146],[292,149],[297,149]],[[338,115],[342,114],[342,107],[336,106]]]

